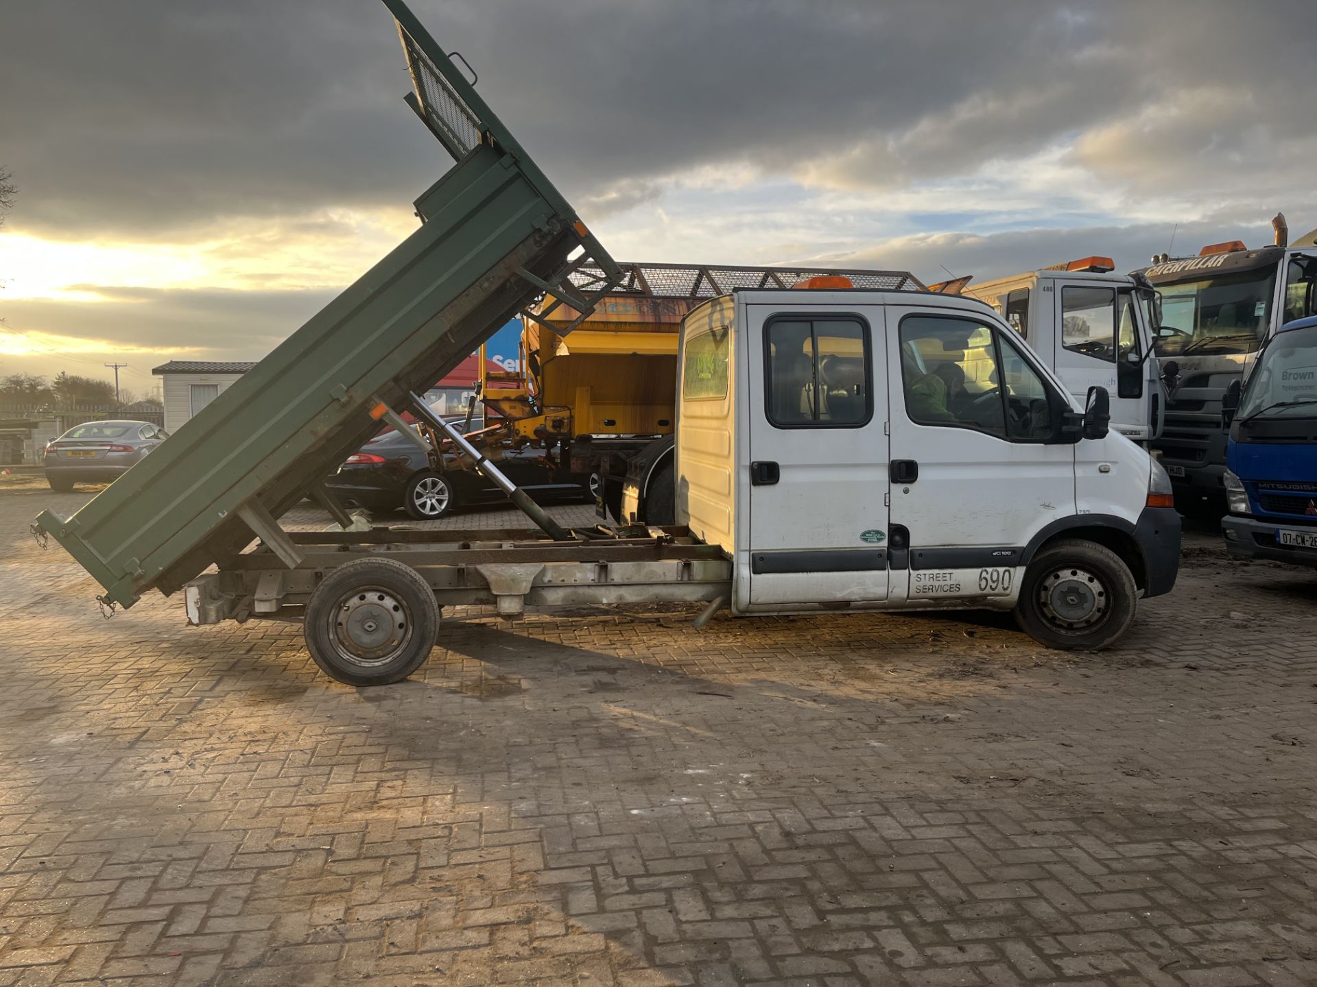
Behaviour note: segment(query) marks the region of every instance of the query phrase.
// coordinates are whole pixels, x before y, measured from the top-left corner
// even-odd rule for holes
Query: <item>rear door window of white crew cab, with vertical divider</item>
[[[869,326],[859,317],[770,318],[764,366],[777,428],[859,428],[873,417]]]

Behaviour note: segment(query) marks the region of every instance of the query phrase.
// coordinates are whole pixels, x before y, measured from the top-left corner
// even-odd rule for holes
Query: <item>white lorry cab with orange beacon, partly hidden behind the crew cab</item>
[[[1108,257],[998,278],[961,288],[992,305],[1077,399],[1101,386],[1112,428],[1135,442],[1162,429],[1166,390],[1152,357],[1152,288],[1114,274]]]

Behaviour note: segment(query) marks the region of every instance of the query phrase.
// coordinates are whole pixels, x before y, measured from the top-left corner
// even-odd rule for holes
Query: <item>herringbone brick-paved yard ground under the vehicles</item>
[[[1081,658],[458,611],[353,690],[294,626],[103,621],[26,536],[84,499],[0,494],[0,984],[1317,983],[1313,575],[1202,534]]]

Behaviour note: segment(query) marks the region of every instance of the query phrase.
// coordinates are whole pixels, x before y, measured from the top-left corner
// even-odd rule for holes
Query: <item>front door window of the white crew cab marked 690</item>
[[[918,425],[1013,442],[1040,442],[1052,430],[1042,378],[1011,340],[973,318],[902,318],[901,383],[906,415]]]

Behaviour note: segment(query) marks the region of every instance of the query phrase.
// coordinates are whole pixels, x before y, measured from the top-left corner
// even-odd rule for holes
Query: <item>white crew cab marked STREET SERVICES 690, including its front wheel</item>
[[[1171,590],[1180,521],[1087,397],[972,299],[738,291],[682,324],[676,521],[734,613],[986,607],[1100,647]]]

